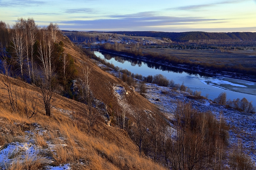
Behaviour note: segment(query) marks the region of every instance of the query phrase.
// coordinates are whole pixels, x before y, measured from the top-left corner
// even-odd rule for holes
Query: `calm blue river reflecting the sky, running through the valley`
[[[94,51],[94,54],[109,63],[113,63],[119,68],[127,69],[132,73],[148,75],[162,74],[169,80],[174,80],[176,84],[182,84],[193,91],[201,91],[201,95],[208,96],[208,99],[215,99],[221,92],[227,93],[228,99],[243,99],[244,97],[253,106],[256,106],[256,83],[224,76],[211,76],[196,74],[195,72],[185,72],[176,68],[161,66],[154,63],[142,62],[134,58],[113,55],[105,52]]]

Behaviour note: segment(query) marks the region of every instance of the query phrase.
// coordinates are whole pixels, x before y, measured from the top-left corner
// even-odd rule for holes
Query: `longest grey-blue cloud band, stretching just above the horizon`
[[[69,20],[57,22],[60,27],[65,25],[65,28],[90,29],[90,30],[145,30],[150,27],[164,26],[181,26],[195,25],[202,23],[223,23],[224,19],[206,19],[200,17],[167,17],[167,16],[152,16],[145,15],[146,13],[109,16],[108,19],[96,20]],[[150,14],[150,13],[149,13]],[[134,17],[136,16],[136,17]]]

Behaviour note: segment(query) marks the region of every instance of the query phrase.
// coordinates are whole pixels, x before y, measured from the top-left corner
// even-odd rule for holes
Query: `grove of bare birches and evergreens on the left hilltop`
[[[10,27],[1,21],[0,35],[1,80],[7,81],[4,89],[9,92],[10,104],[17,105],[17,89],[9,77],[19,78],[39,87],[39,99],[46,115],[50,116],[56,103],[55,93],[67,93],[71,80],[77,75],[74,59],[64,52],[64,43],[57,42],[58,25],[50,23],[40,28],[33,18],[19,18]],[[27,96],[25,91],[23,95]],[[12,109],[17,111],[17,107]]]

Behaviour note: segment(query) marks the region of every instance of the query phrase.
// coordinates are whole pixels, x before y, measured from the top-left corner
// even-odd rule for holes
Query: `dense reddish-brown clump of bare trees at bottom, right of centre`
[[[174,129],[170,138],[170,164],[173,170],[206,168],[208,155],[205,130],[200,126],[198,112],[189,103],[178,102],[175,110]]]

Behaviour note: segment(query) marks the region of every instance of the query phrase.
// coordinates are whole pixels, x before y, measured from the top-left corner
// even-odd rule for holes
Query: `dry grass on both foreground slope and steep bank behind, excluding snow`
[[[111,103],[113,108],[118,109],[119,105],[111,86],[119,84],[130,91],[131,105],[138,108],[147,107],[150,110],[156,109],[146,99],[132,92],[121,80],[114,78],[91,63],[81,51],[78,51],[80,49],[71,44],[67,45],[65,42],[64,44],[66,44],[65,51],[73,55],[78,70],[82,69],[82,63],[79,60],[90,63],[92,67],[92,90],[97,99],[106,104]],[[26,88],[28,92],[38,93],[35,86],[16,79],[12,79],[12,83],[15,87],[21,87],[21,91]],[[43,104],[38,103],[40,108],[38,114],[28,119],[22,111],[20,113],[13,112],[3,97],[4,95],[6,95],[6,91],[0,89],[0,134],[3,134],[0,145],[14,141],[28,142],[28,138],[33,138],[35,145],[42,148],[42,154],[53,158],[54,162],[51,165],[69,163],[72,169],[163,169],[150,159],[140,158],[132,140],[122,129],[109,127],[102,122],[88,135],[83,129],[74,126],[68,112],[71,112],[72,108],[75,110],[84,109],[81,103],[58,96],[60,102],[56,108],[52,109],[51,117],[45,115]],[[18,101],[20,110],[22,110],[22,102]],[[62,110],[60,111],[60,109]],[[40,129],[46,132],[38,132],[34,123],[37,123]],[[52,151],[45,151],[51,147],[53,148]],[[19,155],[15,157],[19,159]],[[39,169],[45,165],[43,158],[34,162],[35,165],[30,162],[31,158],[28,158],[27,162],[18,162],[15,165],[8,165],[8,167],[9,169]]]

